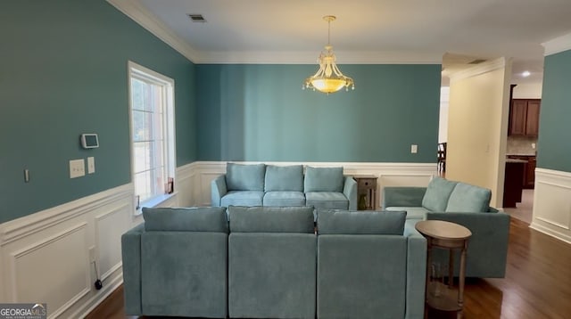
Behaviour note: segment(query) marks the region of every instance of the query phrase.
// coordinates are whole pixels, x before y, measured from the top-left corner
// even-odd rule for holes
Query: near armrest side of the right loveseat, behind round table
[[[481,213],[427,212],[426,219],[444,220],[467,227],[467,276],[502,278],[506,273],[509,241],[509,215],[491,209]],[[455,267],[457,268],[457,267]]]

